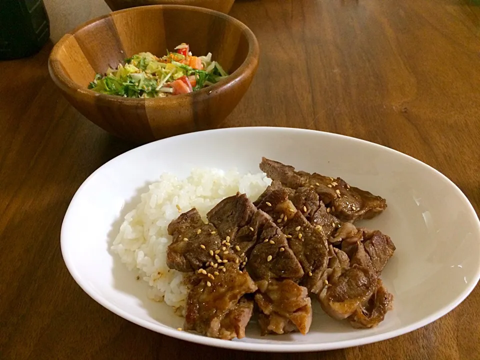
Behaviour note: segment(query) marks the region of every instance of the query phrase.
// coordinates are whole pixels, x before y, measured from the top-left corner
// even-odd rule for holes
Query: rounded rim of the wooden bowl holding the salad
[[[122,97],[118,95],[109,95],[109,94],[104,94],[104,93],[90,90],[87,87],[80,86],[78,83],[71,80],[71,78],[67,76],[67,74],[63,70],[59,60],[59,52],[62,50],[64,43],[67,41],[68,38],[70,38],[71,36],[74,36],[74,34],[80,29],[87,27],[94,22],[100,21],[106,17],[112,16],[118,13],[128,12],[128,11],[139,11],[145,8],[190,10],[190,11],[197,11],[197,12],[205,12],[211,15],[222,17],[234,23],[236,26],[238,26],[241,29],[241,31],[245,34],[246,39],[248,41],[248,53],[245,60],[241,63],[241,65],[235,71],[229,74],[228,77],[221,79],[220,81],[218,81],[213,85],[204,87],[201,90],[190,92],[187,94],[175,95],[176,98],[192,96],[192,94],[195,94],[195,96],[200,96],[200,97],[207,96],[212,91],[215,91],[216,89],[219,89],[229,83],[236,82],[244,77],[247,77],[252,72],[255,71],[258,63],[260,49],[254,33],[243,22],[235,19],[232,16],[224,14],[222,12],[210,10],[203,7],[187,6],[187,5],[145,5],[145,6],[136,6],[136,7],[123,9],[123,10],[113,11],[108,14],[95,17],[91,20],[88,20],[76,26],[74,29],[72,29],[71,31],[63,35],[60,38],[60,40],[53,46],[53,49],[51,50],[50,56],[48,58],[48,71],[50,72],[50,76],[52,77],[53,81],[57,84],[57,86],[59,86],[63,91],[66,91],[70,95],[76,94],[78,96],[78,94],[80,93],[82,97],[90,98],[91,100],[96,99],[96,100],[103,100],[103,101],[121,102],[123,105],[130,105],[130,106],[138,106],[139,104],[150,103],[150,102],[155,102],[157,105],[159,105],[161,104],[161,102],[166,103],[170,101],[171,99],[169,97],[132,98],[132,97]]]

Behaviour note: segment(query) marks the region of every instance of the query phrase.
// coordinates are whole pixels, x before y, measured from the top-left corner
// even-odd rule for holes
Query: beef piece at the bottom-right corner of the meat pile
[[[377,280],[376,291],[369,298],[365,305],[359,306],[348,321],[356,328],[370,328],[378,325],[385,318],[385,314],[391,310],[393,295]]]

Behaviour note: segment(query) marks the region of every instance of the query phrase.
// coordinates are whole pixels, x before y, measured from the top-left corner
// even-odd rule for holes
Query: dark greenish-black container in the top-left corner
[[[43,0],[0,0],[0,60],[33,55],[49,37]]]

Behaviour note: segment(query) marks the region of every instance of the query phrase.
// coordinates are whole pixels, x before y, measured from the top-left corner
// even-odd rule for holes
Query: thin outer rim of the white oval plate
[[[400,156],[406,156],[410,161],[413,161],[416,164],[426,166],[429,170],[433,170],[436,175],[439,175],[443,180],[446,180],[450,185],[453,185],[454,190],[457,192],[457,194],[460,196],[460,198],[466,202],[466,205],[468,207],[469,212],[471,215],[473,215],[473,218],[476,219],[476,230],[477,233],[480,234],[480,220],[478,218],[478,215],[476,214],[475,209],[473,208],[471,202],[469,199],[466,197],[466,195],[461,191],[461,189],[452,181],[450,180],[447,176],[442,174],[440,171],[435,169],[434,167],[428,165],[427,163],[424,163],[423,161],[420,161],[413,156],[407,155],[401,151],[392,149],[390,147],[384,146],[377,144],[375,142],[363,140],[357,137],[353,136],[347,136],[347,135],[342,135],[342,134],[337,134],[333,132],[327,132],[327,131],[319,131],[319,130],[311,130],[311,129],[303,129],[303,128],[295,128],[295,127],[274,127],[274,126],[245,126],[245,127],[228,127],[228,128],[218,128],[218,129],[210,129],[210,130],[203,130],[203,131],[196,131],[196,132],[190,132],[186,134],[180,134],[172,137],[167,137],[164,139],[152,141],[140,146],[137,146],[133,149],[130,149],[128,151],[125,151],[112,159],[108,160],[101,166],[99,166],[95,171],[93,171],[78,187],[78,189],[75,191],[73,197],[70,200],[70,203],[68,204],[67,210],[65,211],[65,215],[62,220],[61,224],[61,229],[60,229],[60,248],[61,248],[61,255],[63,258],[63,261],[65,262],[65,265],[70,273],[70,275],[73,277],[75,282],[80,286],[80,288],[86,292],[93,300],[95,300],[97,303],[105,307],[107,310],[115,313],[116,315],[132,322],[135,323],[141,327],[147,328],[149,330],[161,333],[166,336],[174,337],[180,340],[184,341],[189,341],[193,343],[198,343],[202,345],[208,345],[208,346],[213,346],[213,347],[221,347],[221,348],[227,348],[227,349],[235,349],[235,350],[243,350],[243,351],[256,351],[256,352],[308,352],[308,351],[323,351],[323,350],[333,350],[333,349],[340,349],[340,348],[347,348],[347,347],[352,347],[352,346],[359,346],[359,345],[365,345],[373,342],[378,342],[378,341],[383,341],[389,338],[397,337],[406,333],[409,333],[411,331],[414,331],[416,329],[419,329],[425,325],[428,325],[429,323],[439,319],[440,317],[446,315],[450,311],[452,311],[454,308],[456,308],[470,293],[473,291],[475,286],[477,285],[478,281],[480,280],[480,263],[478,264],[478,267],[476,269],[476,272],[474,276],[472,276],[472,280],[470,281],[470,284],[465,287],[465,289],[459,293],[455,300],[450,302],[448,305],[444,306],[443,308],[439,309],[438,311],[435,311],[434,313],[430,314],[429,316],[426,316],[425,318],[422,318],[418,321],[415,321],[414,323],[401,327],[399,329],[393,329],[389,330],[380,334],[373,334],[373,335],[368,335],[364,337],[359,337],[359,338],[354,338],[354,339],[347,339],[347,340],[340,340],[340,341],[335,341],[335,342],[326,342],[326,343],[296,343],[292,342],[291,344],[289,343],[261,343],[261,342],[243,342],[243,341],[228,341],[228,340],[222,340],[222,339],[217,339],[217,338],[211,338],[207,337],[204,335],[196,334],[196,333],[190,333],[186,331],[179,331],[177,329],[170,328],[168,326],[161,326],[157,325],[154,323],[151,323],[149,321],[137,318],[134,315],[131,315],[127,311],[123,310],[122,308],[118,307],[117,305],[108,302],[106,299],[104,299],[102,296],[98,295],[95,291],[90,289],[87,284],[81,280],[81,275],[76,271],[75,267],[73,266],[72,260],[68,257],[67,255],[67,250],[66,250],[66,242],[67,240],[65,239],[65,231],[66,227],[69,225],[69,213],[71,212],[71,209],[75,206],[75,201],[80,195],[82,189],[92,181],[92,179],[96,176],[96,174],[105,167],[107,167],[110,163],[114,162],[118,157],[125,155],[126,153],[131,153],[135,151],[142,151],[142,149],[147,148],[147,147],[153,147],[155,146],[158,142],[167,142],[167,141],[174,141],[177,137],[189,137],[189,136],[198,136],[198,134],[201,133],[211,133],[211,132],[235,132],[235,131],[277,131],[277,132],[297,132],[297,133],[316,133],[321,136],[329,136],[329,137],[337,137],[337,138],[342,138],[342,139],[348,139],[353,142],[361,143],[361,144],[367,144],[369,146],[373,147],[378,147],[380,150],[383,151],[388,151],[392,152],[396,155]],[[200,135],[201,136],[201,135]]]

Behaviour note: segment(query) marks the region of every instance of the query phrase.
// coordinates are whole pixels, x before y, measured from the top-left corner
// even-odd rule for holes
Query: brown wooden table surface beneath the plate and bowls
[[[231,15],[255,32],[261,58],[222,126],[303,127],[386,145],[443,172],[480,211],[478,1],[237,0]],[[478,286],[419,330],[306,354],[190,344],[97,304],[63,263],[60,225],[82,181],[134,145],[67,103],[48,75],[50,50],[0,62],[1,359],[480,359]]]

